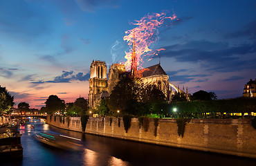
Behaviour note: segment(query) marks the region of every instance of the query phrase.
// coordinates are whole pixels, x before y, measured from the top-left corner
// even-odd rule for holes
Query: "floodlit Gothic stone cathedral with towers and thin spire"
[[[109,68],[109,75],[107,78],[107,65],[102,61],[93,61],[90,67],[89,80],[89,107],[95,108],[100,104],[102,98],[107,98],[113,88],[116,86],[122,75],[129,75],[131,77],[139,77],[144,84],[156,85],[158,89],[163,91],[168,101],[171,100],[172,95],[176,92],[183,93],[188,98],[188,88],[184,92],[170,83],[169,76],[165,73],[159,64],[149,66],[142,71],[137,70],[135,42],[133,45],[133,52],[131,55],[131,70],[126,71],[124,64],[112,64]],[[138,73],[139,76],[138,76]],[[170,87],[171,86],[171,87]],[[174,91],[172,91],[172,88]]]

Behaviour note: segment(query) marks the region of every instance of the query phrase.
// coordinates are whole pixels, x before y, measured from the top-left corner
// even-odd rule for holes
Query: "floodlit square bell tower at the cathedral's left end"
[[[89,107],[95,108],[100,102],[98,95],[107,91],[107,66],[106,62],[93,61],[90,67],[89,80]]]

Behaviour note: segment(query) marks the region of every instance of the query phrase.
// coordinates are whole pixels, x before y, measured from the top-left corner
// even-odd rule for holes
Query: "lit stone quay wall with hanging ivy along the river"
[[[50,116],[47,116],[46,122],[62,129],[82,132],[80,117],[71,117],[69,125],[67,118],[64,123],[63,120],[60,122],[60,116],[57,116],[56,120],[54,116],[51,120]],[[154,120],[149,119],[148,131],[138,124],[138,119],[132,118],[131,127],[126,133],[122,118],[120,127],[118,118],[90,118],[85,133],[256,158],[256,129],[248,119],[192,119],[185,125],[183,138],[178,135],[178,126],[173,119],[160,119],[157,127]]]

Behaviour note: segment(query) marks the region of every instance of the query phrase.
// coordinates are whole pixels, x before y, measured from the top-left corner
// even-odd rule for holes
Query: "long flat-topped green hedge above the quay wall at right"
[[[173,109],[177,112],[174,113]],[[231,113],[248,113],[256,109],[256,98],[233,98],[228,100],[194,100],[191,102],[176,102],[169,105],[172,116],[189,118],[230,118]],[[208,113],[208,115],[206,115]],[[220,113],[220,114],[217,114]],[[226,113],[224,115],[223,113]],[[219,117],[217,117],[219,116]],[[250,118],[250,117],[248,117]]]

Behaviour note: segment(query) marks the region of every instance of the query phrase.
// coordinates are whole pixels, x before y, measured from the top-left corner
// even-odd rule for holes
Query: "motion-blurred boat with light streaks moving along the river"
[[[81,140],[77,138],[72,138],[70,136],[40,132],[39,134],[35,134],[35,139],[39,142],[44,143],[45,145],[49,145],[58,149],[71,151],[82,150],[82,145],[80,144],[80,142],[77,142]],[[74,140],[76,142],[73,142]]]

